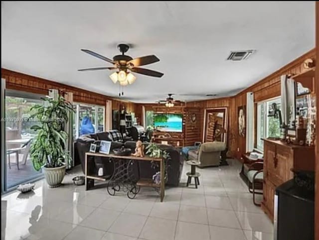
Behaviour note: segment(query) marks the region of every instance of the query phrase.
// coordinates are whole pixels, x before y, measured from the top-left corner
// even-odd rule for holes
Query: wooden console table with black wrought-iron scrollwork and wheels
[[[153,158],[149,156],[145,157],[135,157],[135,156],[118,156],[115,154],[103,154],[95,152],[85,153],[85,189],[89,190],[90,183],[89,179],[106,181],[110,176],[96,176],[89,175],[87,171],[88,156],[98,156],[108,158],[113,161],[114,171],[108,181],[107,190],[110,195],[115,195],[116,192],[122,190],[127,192],[129,198],[133,199],[139,193],[140,187],[154,187],[158,189],[160,194],[160,201],[163,201],[165,196],[165,168],[164,160],[162,158]],[[154,161],[160,164],[160,183],[154,183],[153,179],[136,179],[133,174],[133,166],[137,164],[138,161]]]

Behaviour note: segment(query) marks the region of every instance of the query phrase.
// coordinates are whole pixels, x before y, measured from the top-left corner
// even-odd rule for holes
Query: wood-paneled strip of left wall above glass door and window
[[[65,84],[14,72],[3,68],[1,68],[1,78],[5,79],[5,87],[7,89],[43,95],[48,95],[49,89],[58,89],[64,92],[72,92],[74,102],[105,106],[107,100],[112,100],[112,109],[119,109],[120,104],[124,103],[127,106],[127,110],[129,112],[135,111],[134,103],[120,101],[118,99],[113,99],[102,94],[97,94],[84,89],[68,86]]]

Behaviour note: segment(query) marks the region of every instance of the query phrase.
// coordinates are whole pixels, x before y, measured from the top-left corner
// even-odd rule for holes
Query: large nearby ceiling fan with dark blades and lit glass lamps
[[[147,76],[157,77],[160,78],[163,76],[163,73],[146,69],[140,68],[140,66],[148,65],[151,63],[155,63],[160,61],[160,59],[155,55],[148,55],[139,58],[132,58],[131,56],[125,55],[129,50],[130,46],[127,44],[119,44],[118,49],[122,53],[122,55],[116,55],[113,57],[113,60],[107,57],[104,57],[98,53],[95,53],[88,49],[81,49],[81,51],[88,53],[94,57],[100,58],[106,62],[112,63],[112,67],[97,67],[97,68],[85,68],[79,69],[78,71],[95,71],[95,70],[116,70],[116,72],[110,75],[111,80],[113,83],[119,82],[121,86],[126,86],[128,84],[133,84],[136,80],[136,77],[132,74],[132,72],[143,74]],[[123,93],[122,93],[123,95]]]

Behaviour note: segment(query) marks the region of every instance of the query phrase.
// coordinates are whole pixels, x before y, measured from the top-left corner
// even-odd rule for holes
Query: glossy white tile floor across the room
[[[134,200],[85,191],[66,176],[50,189],[44,181],[29,194],[1,198],[1,240],[273,240],[273,225],[252,202],[239,178],[240,164],[198,169],[200,186],[166,188],[164,202],[143,188]]]

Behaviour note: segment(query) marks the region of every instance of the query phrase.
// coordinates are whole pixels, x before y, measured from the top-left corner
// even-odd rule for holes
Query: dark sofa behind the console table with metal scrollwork
[[[78,139],[76,139],[74,144],[74,151],[75,156],[78,157],[78,160],[76,162],[79,162],[82,166],[83,173],[85,171],[85,153],[89,151],[91,143],[94,143],[97,140],[107,140],[110,141],[110,133],[109,132],[100,132],[96,134],[89,134],[89,135],[83,135],[80,136]],[[114,138],[112,138],[114,139]],[[147,146],[148,143],[144,143],[145,146]],[[115,148],[120,147],[126,147],[130,148],[132,151],[134,151],[136,147],[135,141],[111,141],[111,151]],[[146,147],[145,147],[146,148]],[[180,151],[176,148],[174,148],[171,145],[160,145],[161,149],[165,149],[168,153],[170,158],[168,159],[168,168],[167,168],[167,175],[168,179],[166,184],[171,186],[178,186],[181,172],[183,168],[183,162],[184,158],[180,154]],[[146,151],[146,149],[145,149]],[[106,161],[104,157],[93,157],[94,161],[90,161],[90,164],[88,167],[88,172],[90,174],[97,174],[99,168],[103,168],[103,172],[105,175],[112,175],[113,174],[113,163],[110,161]],[[141,178],[152,178],[152,176],[158,171],[158,169],[153,169],[151,167],[150,162],[139,162],[138,164],[139,172]],[[138,172],[138,171],[134,171]]]

